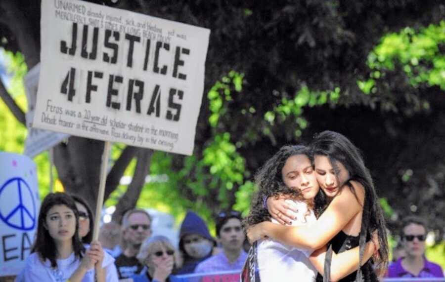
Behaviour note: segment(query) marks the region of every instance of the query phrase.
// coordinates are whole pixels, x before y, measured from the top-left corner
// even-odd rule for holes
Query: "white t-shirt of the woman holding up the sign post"
[[[45,263],[39,258],[37,253],[32,253],[26,259],[26,266],[23,270],[23,278],[25,282],[65,282],[81,264],[81,260],[76,259],[74,252],[66,259],[57,260],[57,269],[51,267],[51,263],[46,259]],[[118,282],[116,266],[114,258],[104,251],[102,267],[106,270],[105,281]],[[94,268],[87,271],[82,282],[94,282]]]

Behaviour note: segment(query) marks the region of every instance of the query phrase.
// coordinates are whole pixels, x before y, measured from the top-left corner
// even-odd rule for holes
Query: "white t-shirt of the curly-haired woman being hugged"
[[[292,221],[293,226],[304,225],[316,221],[312,210],[308,213],[305,202],[286,200],[294,205],[298,212],[297,219]],[[279,224],[276,220],[272,222]],[[285,245],[270,239],[258,243],[258,268],[262,282],[313,282],[317,271],[309,261],[313,250],[301,249]]]

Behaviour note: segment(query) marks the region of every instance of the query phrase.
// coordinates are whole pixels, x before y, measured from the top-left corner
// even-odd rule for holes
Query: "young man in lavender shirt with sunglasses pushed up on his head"
[[[243,249],[246,239],[238,211],[222,212],[216,220],[217,241],[223,251],[198,264],[195,273],[234,271],[243,268],[247,253]],[[239,275],[236,275],[239,279]]]

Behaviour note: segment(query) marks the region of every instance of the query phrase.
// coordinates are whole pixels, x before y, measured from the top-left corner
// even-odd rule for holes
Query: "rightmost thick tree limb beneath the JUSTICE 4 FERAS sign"
[[[113,221],[120,222],[123,213],[136,206],[137,199],[139,198],[142,187],[145,183],[145,177],[148,174],[150,168],[150,159],[153,155],[153,150],[150,149],[138,149],[137,163],[134,170],[133,180],[127,188],[124,196],[119,200],[116,205],[116,210],[113,213]]]

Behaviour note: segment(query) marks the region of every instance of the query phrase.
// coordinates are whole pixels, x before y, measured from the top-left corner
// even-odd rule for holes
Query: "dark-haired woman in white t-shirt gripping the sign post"
[[[65,193],[50,193],[42,202],[31,252],[26,282],[118,281],[113,258],[104,254],[99,242],[91,242],[85,250],[79,237],[79,211]]]

